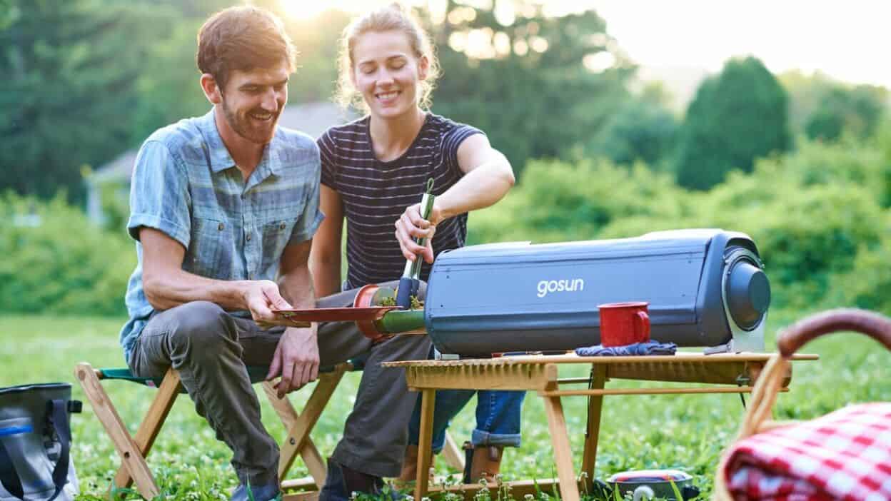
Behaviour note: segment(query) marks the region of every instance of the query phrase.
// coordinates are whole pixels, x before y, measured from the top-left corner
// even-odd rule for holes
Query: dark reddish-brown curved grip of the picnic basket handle
[[[856,308],[830,309],[798,321],[780,334],[777,348],[789,358],[813,339],[836,331],[866,334],[891,350],[891,318]]]

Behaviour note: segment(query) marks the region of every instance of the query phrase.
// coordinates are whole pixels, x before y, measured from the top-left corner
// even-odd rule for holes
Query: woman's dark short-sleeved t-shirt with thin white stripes
[[[442,194],[462,177],[458,146],[480,130],[427,114],[418,136],[396,160],[374,155],[369,117],[329,128],[317,143],[322,156],[322,184],[340,194],[347,218],[347,288],[396,280],[405,256],[396,241],[396,219],[421,201],[427,180]],[[435,254],[457,249],[467,239],[467,214],[448,218],[433,236]],[[421,267],[427,280],[430,265]]]

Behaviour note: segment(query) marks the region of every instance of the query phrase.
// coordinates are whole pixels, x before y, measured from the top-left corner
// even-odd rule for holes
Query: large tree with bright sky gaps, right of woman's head
[[[433,111],[486,131],[518,172],[531,158],[568,158],[624,102],[634,67],[596,12],[493,4],[450,1],[438,23],[422,12],[443,68]],[[504,5],[513,11],[496,11]]]

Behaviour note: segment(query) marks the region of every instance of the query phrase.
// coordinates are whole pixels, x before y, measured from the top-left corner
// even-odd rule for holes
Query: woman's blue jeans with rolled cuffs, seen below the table
[[[438,453],[446,443],[446,428],[458,411],[477,394],[477,427],[470,435],[470,443],[478,446],[519,447],[519,410],[526,391],[503,390],[437,390],[433,407],[433,452]],[[418,445],[421,430],[421,398],[414,405],[408,423],[408,443]]]

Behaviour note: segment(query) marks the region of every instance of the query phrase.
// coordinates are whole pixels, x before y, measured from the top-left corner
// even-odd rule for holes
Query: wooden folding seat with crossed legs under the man
[[[287,396],[278,398],[272,383],[263,382],[266,376],[266,367],[248,367],[251,382],[263,382],[266,397],[269,398],[276,414],[282,420],[285,430],[288,431],[280,447],[278,477],[282,482],[282,491],[302,489],[303,492],[286,495],[285,499],[308,501],[318,496],[318,490],[323,486],[327,469],[323,457],[315,447],[309,433],[313,430],[319,416],[322,415],[322,411],[328,404],[328,400],[331,399],[343,374],[354,369],[361,369],[361,365],[355,366],[351,362],[344,362],[333,367],[323,367],[306,407],[303,408],[302,413],[298,413],[290,404]],[[151,446],[158,437],[161,426],[167,419],[176,397],[184,392],[179,374],[170,368],[163,378],[140,378],[131,374],[126,368],[94,369],[92,365],[84,362],[75,368],[75,376],[121,458],[121,465],[115,475],[113,486],[128,488],[135,483],[136,490],[144,498],[151,499],[158,496],[158,484],[151,475],[145,458],[149,455]],[[136,430],[135,436],[130,435],[127,426],[121,421],[118,410],[102,388],[102,380],[139,382],[158,388],[158,393],[151,401],[151,406]],[[447,434],[444,453],[449,464],[460,471],[463,470],[463,459],[454,440]],[[286,480],[288,471],[298,455],[307,465],[310,476],[303,479]]]

